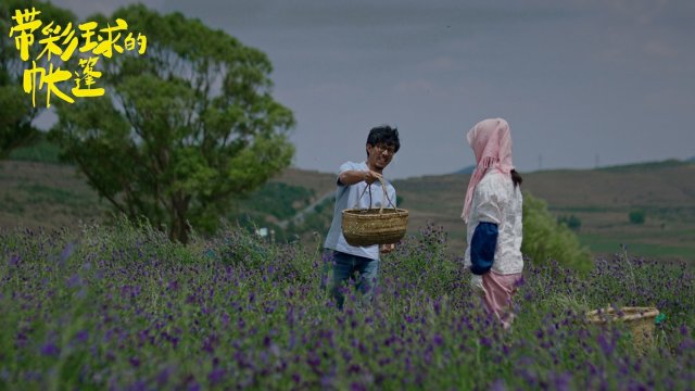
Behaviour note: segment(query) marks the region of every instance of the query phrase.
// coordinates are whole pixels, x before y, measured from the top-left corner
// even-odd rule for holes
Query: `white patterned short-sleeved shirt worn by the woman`
[[[511,178],[495,168],[490,168],[482,177],[473,192],[470,216],[467,226],[468,248],[464,265],[470,262],[470,241],[478,223],[497,225],[497,247],[492,270],[502,274],[515,274],[523,270],[521,256],[521,212],[523,197],[519,187],[515,187]]]

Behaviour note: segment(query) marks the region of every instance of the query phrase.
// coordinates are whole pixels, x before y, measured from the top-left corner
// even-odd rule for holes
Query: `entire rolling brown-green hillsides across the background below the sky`
[[[45,156],[54,155],[50,148],[41,148]],[[22,153],[21,159],[37,159]],[[226,217],[243,216],[245,225],[268,226],[278,232],[278,239],[300,238],[316,245],[326,234],[333,204],[330,199],[312,204],[333,191],[333,181],[334,174],[290,168],[240,200]],[[415,234],[428,223],[441,225],[448,236],[447,251],[463,254],[466,232],[459,215],[468,175],[425,176],[393,184],[400,206],[410,212],[409,231]],[[633,255],[695,261],[694,163],[667,161],[527,173],[523,189],[547,201],[556,216],[579,219],[577,234],[597,256],[612,254],[626,244]],[[307,206],[312,207],[301,220],[292,220]],[[80,222],[102,220],[108,211],[108,203],[99,200],[71,166],[31,161],[0,163],[1,227],[76,228]],[[643,224],[630,222],[633,211],[644,213]]]

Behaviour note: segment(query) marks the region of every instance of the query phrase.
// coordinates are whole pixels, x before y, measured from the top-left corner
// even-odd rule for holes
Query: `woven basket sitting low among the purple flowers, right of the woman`
[[[655,307],[601,308],[586,313],[586,321],[606,325],[610,321],[624,321],[630,328],[632,342],[637,352],[644,353],[654,348],[654,324],[659,315]]]

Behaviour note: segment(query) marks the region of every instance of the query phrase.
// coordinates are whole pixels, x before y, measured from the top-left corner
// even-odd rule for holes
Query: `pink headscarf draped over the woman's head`
[[[468,130],[466,138],[476,154],[476,171],[470,176],[464,213],[460,215],[468,223],[476,186],[485,175],[488,168],[495,167],[509,175],[514,169],[514,163],[511,163],[511,135],[509,124],[506,121],[502,118],[483,119]]]

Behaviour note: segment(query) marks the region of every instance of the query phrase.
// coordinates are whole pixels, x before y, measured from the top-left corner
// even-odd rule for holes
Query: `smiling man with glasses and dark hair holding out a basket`
[[[383,200],[383,190],[379,178],[383,179],[383,169],[391,163],[401,148],[399,130],[388,125],[377,126],[369,131],[366,150],[367,161],[362,163],[346,162],[340,166],[338,189],[336,191],[336,209],[330,230],[326,237],[324,248],[327,250],[326,262],[332,264],[331,294],[336,304],[342,310],[344,295],[343,286],[349,279],[355,279],[355,288],[362,293],[363,300],[371,301],[377,286],[379,273],[379,253],[393,251],[394,244],[354,247],[348,244],[342,232],[342,211],[352,207],[395,207],[395,189],[387,184],[388,200]],[[365,188],[371,187],[371,191]],[[362,197],[361,197],[362,195]],[[356,275],[356,277],[355,277]]]

